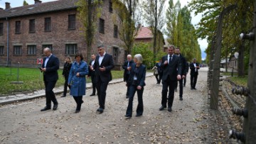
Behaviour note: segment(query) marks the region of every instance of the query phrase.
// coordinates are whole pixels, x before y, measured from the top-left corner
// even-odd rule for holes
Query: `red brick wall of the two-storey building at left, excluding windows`
[[[76,13],[76,28],[75,30],[68,30],[68,15]],[[44,31],[45,18],[51,18],[51,31]],[[117,47],[118,60],[115,65],[122,65],[124,62],[124,50],[122,48],[122,41],[119,38],[114,38],[114,24],[112,22],[112,13],[109,12],[109,1],[104,1],[102,8],[101,18],[105,19],[105,33],[95,34],[95,40],[92,45],[92,52],[97,54],[97,45],[103,43],[107,49],[107,52],[112,55],[113,47]],[[29,33],[29,20],[35,19],[36,33]],[[15,34],[15,21],[21,21],[21,34]],[[7,36],[6,28],[7,21],[0,20],[0,23],[4,22],[4,35],[0,35],[0,46],[4,45],[5,55],[0,55],[0,65],[6,65],[6,48],[7,48]],[[22,16],[16,18],[9,18],[9,60],[12,64],[21,62],[23,67],[37,67],[36,59],[43,58],[42,45],[53,45],[53,54],[59,57],[60,65],[62,66],[65,60],[65,44],[76,43],[78,45],[78,52],[82,52],[87,59],[87,47],[85,38],[82,36],[80,30],[81,24],[78,21],[78,14],[75,9],[65,11],[55,11],[49,13],[41,13],[31,16]],[[97,22],[98,26],[98,22]],[[13,55],[14,45],[22,46],[22,55]],[[27,45],[36,45],[36,55],[27,55]]]

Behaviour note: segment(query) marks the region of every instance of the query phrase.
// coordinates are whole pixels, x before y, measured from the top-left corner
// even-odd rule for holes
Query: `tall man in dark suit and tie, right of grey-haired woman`
[[[177,55],[174,55],[174,45],[169,46],[168,55],[162,57],[161,67],[163,68],[162,77],[162,98],[160,111],[166,108],[167,92],[169,88],[168,96],[168,111],[172,111],[171,106],[174,102],[174,89],[177,83],[177,79],[181,79],[181,61]]]

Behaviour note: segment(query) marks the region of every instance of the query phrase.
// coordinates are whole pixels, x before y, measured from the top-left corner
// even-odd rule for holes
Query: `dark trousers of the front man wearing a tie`
[[[162,98],[161,98],[161,105],[166,107],[167,99],[168,99],[168,107],[171,108],[173,102],[174,102],[174,89],[176,87],[177,81],[166,79],[165,81],[162,81],[163,89],[162,89]],[[167,92],[169,88],[169,95],[167,98]]]

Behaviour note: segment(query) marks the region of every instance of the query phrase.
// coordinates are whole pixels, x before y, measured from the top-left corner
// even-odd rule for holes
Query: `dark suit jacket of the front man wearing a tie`
[[[171,58],[170,58],[171,59]],[[168,55],[162,57],[161,67],[163,69],[162,81],[166,81],[169,77],[171,80],[177,80],[177,75],[181,75],[181,61],[177,55],[173,55],[173,58],[169,64],[164,65],[164,62],[168,60]]]

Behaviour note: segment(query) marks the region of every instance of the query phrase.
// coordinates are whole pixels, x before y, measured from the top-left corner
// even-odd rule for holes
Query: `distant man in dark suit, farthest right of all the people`
[[[200,69],[196,58],[193,58],[193,62],[189,65],[191,69],[191,89],[196,89],[196,81],[198,77],[198,70]]]

